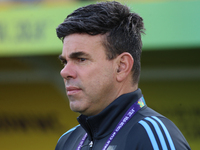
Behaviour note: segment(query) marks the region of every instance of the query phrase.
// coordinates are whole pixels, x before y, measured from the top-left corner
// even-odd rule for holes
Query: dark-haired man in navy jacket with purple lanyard
[[[147,107],[138,88],[143,19],[118,2],[75,10],[57,28],[67,96],[80,125],[56,150],[188,150],[167,118]]]

